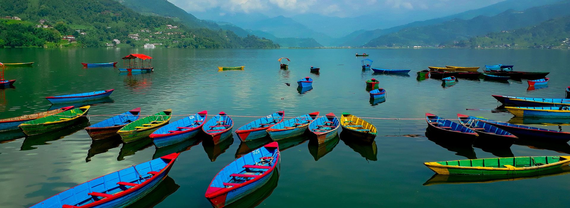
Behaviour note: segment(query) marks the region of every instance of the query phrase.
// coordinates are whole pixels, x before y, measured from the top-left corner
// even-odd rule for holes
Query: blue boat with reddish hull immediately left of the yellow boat
[[[328,113],[311,121],[309,131],[314,133],[319,144],[323,144],[337,136],[337,130],[340,127],[339,119],[334,113]]]

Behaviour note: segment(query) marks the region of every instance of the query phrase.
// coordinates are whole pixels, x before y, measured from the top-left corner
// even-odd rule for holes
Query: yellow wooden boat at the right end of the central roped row
[[[343,127],[343,133],[350,133],[355,138],[367,142],[374,141],[377,135],[374,125],[347,112],[343,112],[340,117],[340,126]]]

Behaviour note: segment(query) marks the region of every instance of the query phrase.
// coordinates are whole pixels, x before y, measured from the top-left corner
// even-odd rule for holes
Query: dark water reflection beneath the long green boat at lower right
[[[557,169],[545,170],[540,172],[538,176],[461,176],[461,175],[442,175],[434,174],[424,183],[424,186],[438,184],[463,184],[463,183],[492,183],[499,181],[516,181],[525,179],[537,179],[549,176],[561,176],[570,173],[570,166],[563,166]]]

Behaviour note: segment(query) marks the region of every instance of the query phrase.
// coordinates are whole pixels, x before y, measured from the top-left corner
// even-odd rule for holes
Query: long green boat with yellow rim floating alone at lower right
[[[540,174],[568,164],[570,156],[502,157],[424,163],[437,174],[486,176]]]

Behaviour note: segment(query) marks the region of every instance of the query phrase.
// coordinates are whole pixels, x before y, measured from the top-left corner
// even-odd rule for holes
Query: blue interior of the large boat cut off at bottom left
[[[168,160],[170,161],[170,160]],[[149,172],[160,172],[168,165],[168,162],[157,158],[148,162],[143,162],[117,172],[109,173],[105,176],[87,181],[62,193],[47,198],[30,208],[62,207],[63,205],[83,206],[102,199],[89,193],[117,194],[133,186],[119,185],[118,182],[143,183],[152,177]]]

